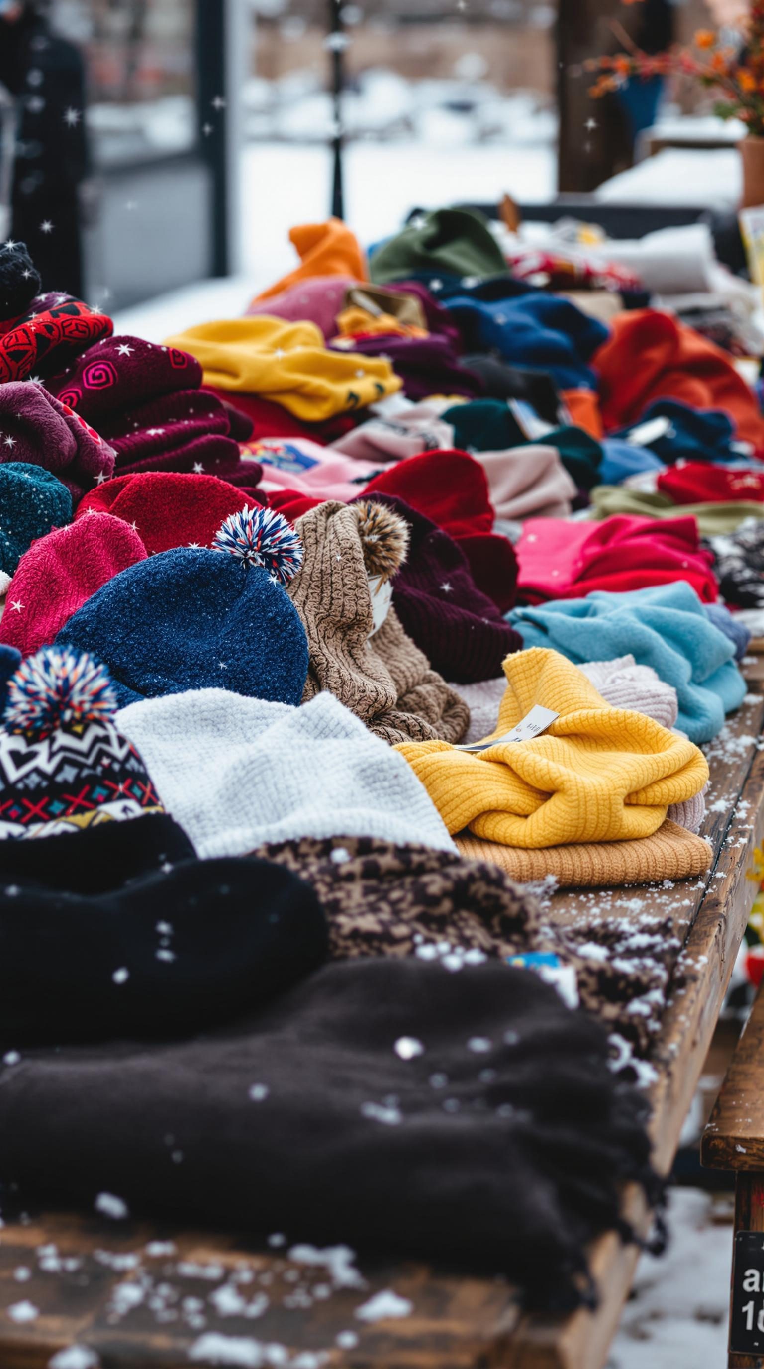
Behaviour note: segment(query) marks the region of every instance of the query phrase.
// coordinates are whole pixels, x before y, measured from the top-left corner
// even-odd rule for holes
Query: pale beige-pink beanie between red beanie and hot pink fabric
[[[500,519],[568,517],[576,486],[555,446],[478,452],[489,496]]]

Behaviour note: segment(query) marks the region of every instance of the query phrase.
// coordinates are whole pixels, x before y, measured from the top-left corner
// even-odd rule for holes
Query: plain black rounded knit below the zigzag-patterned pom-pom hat
[[[262,860],[197,860],[166,815],[0,843],[0,1040],[167,1036],[319,965],[323,910]]]

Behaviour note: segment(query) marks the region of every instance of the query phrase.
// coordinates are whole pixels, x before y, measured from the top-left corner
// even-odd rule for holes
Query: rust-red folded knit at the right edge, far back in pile
[[[591,359],[605,431],[635,423],[654,400],[680,400],[694,409],[724,409],[738,438],[764,457],[764,416],[727,353],[657,309],[619,314],[611,326],[609,341]]]

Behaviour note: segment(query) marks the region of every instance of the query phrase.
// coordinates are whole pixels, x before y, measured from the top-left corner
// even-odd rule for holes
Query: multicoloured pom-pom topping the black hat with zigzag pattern
[[[44,646],[22,661],[8,680],[3,724],[41,741],[62,728],[81,732],[88,723],[108,723],[116,695],[108,671],[88,652]]]

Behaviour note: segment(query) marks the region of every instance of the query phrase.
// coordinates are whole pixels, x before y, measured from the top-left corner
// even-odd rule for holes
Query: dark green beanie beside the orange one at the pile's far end
[[[501,248],[482,214],[435,209],[416,214],[405,229],[372,253],[368,271],[378,285],[404,281],[413,271],[444,271],[457,277],[507,271]]]

